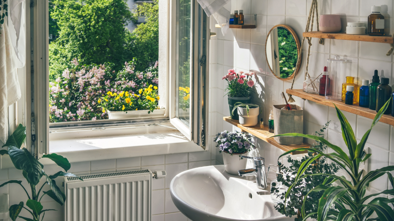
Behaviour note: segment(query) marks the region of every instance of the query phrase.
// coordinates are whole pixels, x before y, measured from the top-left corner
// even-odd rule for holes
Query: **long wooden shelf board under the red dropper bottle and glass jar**
[[[335,103],[336,107],[338,107],[338,109],[340,110],[344,110],[346,112],[357,114],[370,119],[374,119],[376,115],[375,110],[371,110],[366,107],[360,107],[359,105],[347,105],[342,101],[338,101],[338,100],[325,99],[324,96],[320,96],[318,94],[308,94],[306,92],[303,92],[303,90],[301,89],[297,89],[297,90],[287,89],[286,93],[291,94],[293,96],[297,96],[299,98],[307,99],[309,101],[314,101],[316,103],[320,103],[322,105],[326,105],[329,107],[335,107],[334,106]],[[394,117],[388,114],[383,114],[383,116],[380,118],[379,121],[390,125],[394,125]]]

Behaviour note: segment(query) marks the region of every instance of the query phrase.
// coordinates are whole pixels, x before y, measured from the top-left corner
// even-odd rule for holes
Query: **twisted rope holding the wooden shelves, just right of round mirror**
[[[310,5],[309,17],[308,17],[308,20],[307,20],[307,27],[305,28],[305,32],[308,32],[308,31],[309,31],[309,27],[310,27],[310,31],[312,31],[312,29],[313,29],[313,20],[314,20],[314,17],[315,17],[315,13],[316,13],[316,23],[317,23],[316,26],[317,26],[317,30],[319,31],[318,1],[317,1],[317,0],[312,0],[312,4]],[[300,61],[301,61],[301,53],[302,53],[302,48],[303,48],[303,46],[304,46],[305,39],[307,39],[309,46],[308,46],[307,64],[306,64],[306,66],[305,66],[305,76],[304,76],[304,80],[305,80],[305,78],[306,78],[307,76],[310,77],[310,76],[309,76],[309,73],[308,73],[309,56],[310,56],[310,46],[312,46],[312,43],[310,42],[310,40],[311,40],[310,37],[303,37],[303,38],[302,38],[302,41],[301,41],[301,50],[299,50],[299,54],[298,54],[298,58],[297,58],[297,64],[296,64],[296,66],[298,66],[299,63],[300,63]],[[322,44],[322,45],[324,44],[323,39],[319,39],[319,44]],[[292,87],[291,87],[290,89],[293,89],[294,80],[295,80],[295,79],[296,79],[296,77],[293,78]],[[288,96],[289,96],[289,99],[288,99],[289,103],[294,103],[295,100],[294,100],[294,98],[292,98],[292,95],[291,95],[291,94],[288,94]]]

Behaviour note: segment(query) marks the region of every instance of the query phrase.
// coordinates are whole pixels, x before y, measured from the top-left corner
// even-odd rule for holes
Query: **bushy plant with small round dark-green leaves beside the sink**
[[[324,131],[327,129],[329,123],[330,122],[327,122],[322,127],[322,129],[320,129],[320,131],[316,131],[315,135],[324,138]],[[316,144],[312,144],[311,148],[315,148],[324,152],[327,149],[327,145],[316,140]],[[284,175],[281,174],[277,177],[278,182],[282,182],[282,184],[287,187],[292,186],[292,184],[296,182],[296,175],[299,168],[301,168],[301,165],[303,165],[304,162],[313,157],[315,157],[315,154],[311,151],[309,151],[308,155],[304,156],[301,160],[293,160],[290,156],[288,156],[287,162],[292,164],[290,167],[283,166],[280,162],[278,162],[278,165],[282,167],[282,171],[284,172]],[[328,163],[326,157],[320,157],[311,162],[311,164],[306,168],[304,173],[335,174],[338,170],[338,164]],[[284,193],[278,194],[279,188],[276,188],[275,186],[271,187],[271,193],[274,193],[277,198],[283,200],[281,203],[275,206],[275,209],[278,210],[278,212],[280,212],[281,214],[292,217],[293,215],[297,215],[298,211],[301,211],[301,206],[303,203],[305,203],[306,215],[317,212],[317,205],[319,204],[319,200],[323,196],[323,192],[312,192],[309,195],[307,195],[307,193],[316,186],[322,185],[325,182],[326,178],[327,175],[318,175],[313,177],[305,177],[302,180],[299,180],[289,193],[290,200],[285,200]],[[327,186],[331,186],[331,184],[327,184]],[[311,218],[316,219],[316,214],[311,215]],[[296,217],[294,220],[299,221],[299,217]]]

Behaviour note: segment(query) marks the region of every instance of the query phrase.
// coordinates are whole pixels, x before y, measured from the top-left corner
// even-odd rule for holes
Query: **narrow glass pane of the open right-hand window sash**
[[[175,115],[190,127],[191,0],[177,1],[177,88]]]

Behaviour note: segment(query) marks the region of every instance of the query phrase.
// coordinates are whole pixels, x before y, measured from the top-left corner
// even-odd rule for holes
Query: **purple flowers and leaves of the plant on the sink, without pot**
[[[225,151],[230,155],[249,152],[251,148],[255,148],[252,136],[244,132],[223,131],[216,134],[215,142],[216,147],[219,147],[219,153]]]

